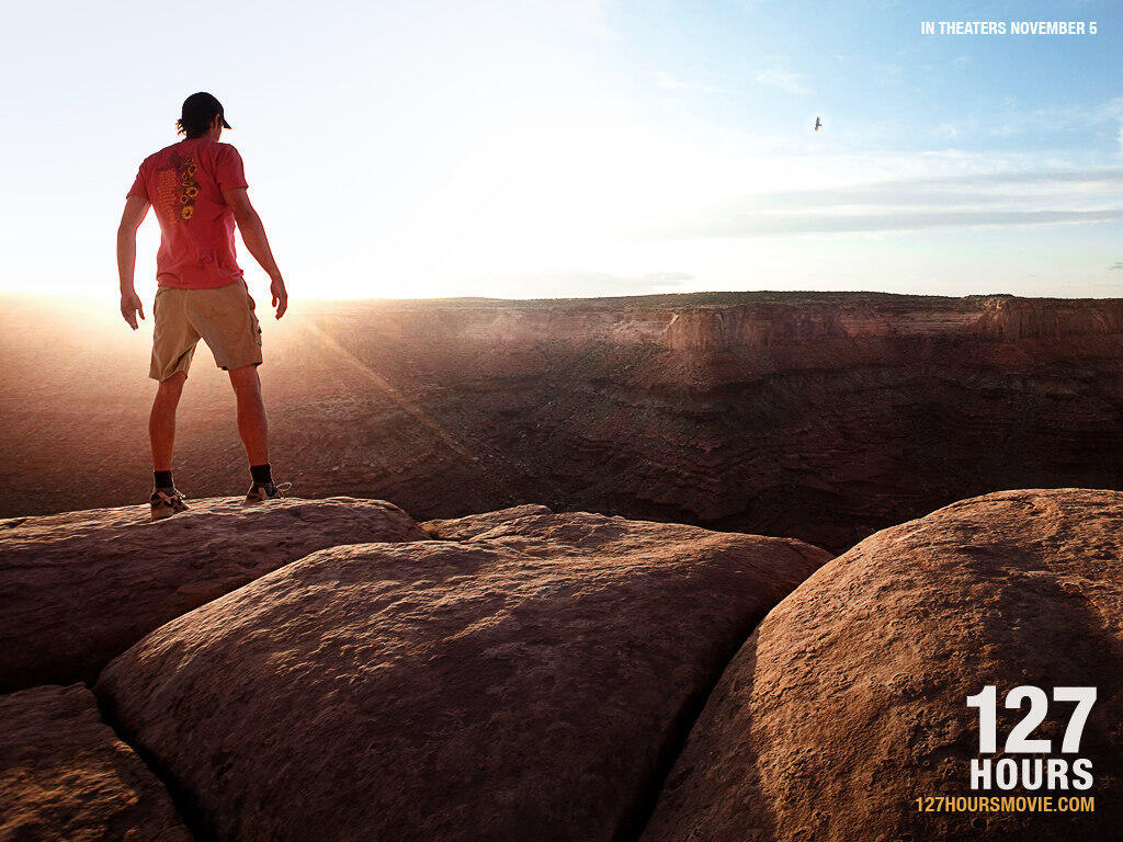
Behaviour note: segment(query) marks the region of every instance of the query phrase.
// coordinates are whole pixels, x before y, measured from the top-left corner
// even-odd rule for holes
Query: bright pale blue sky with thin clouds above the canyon
[[[294,299],[1123,295],[1117,0],[106,0],[3,30],[2,291],[116,302],[125,193],[206,90]]]

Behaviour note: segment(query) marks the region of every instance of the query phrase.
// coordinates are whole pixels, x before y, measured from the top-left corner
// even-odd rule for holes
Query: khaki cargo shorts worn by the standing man
[[[156,329],[148,376],[153,379],[186,374],[200,339],[219,368],[262,364],[262,326],[245,281],[216,290],[161,286],[152,310]]]

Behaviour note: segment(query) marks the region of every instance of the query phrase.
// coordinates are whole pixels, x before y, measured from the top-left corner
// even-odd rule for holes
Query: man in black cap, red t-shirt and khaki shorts
[[[149,376],[159,382],[148,420],[155,476],[153,520],[188,507],[172,482],[172,449],[175,409],[200,339],[210,347],[219,368],[229,372],[237,396],[238,432],[253,483],[244,504],[262,503],[284,491],[274,484],[270,468],[268,427],[257,377],[262,329],[235,258],[235,222],[249,254],[272,281],[277,319],[289,306],[289,295],[265,228],[246,195],[241,156],[218,141],[222,129],[230,128],[222,104],[209,93],[193,93],[184,100],[176,125],[185,139],[144,159],[117,229],[121,315],[136,330],[137,315],[144,319],[144,305],[133,286],[136,232],[148,208],[155,208],[161,242],[149,369]]]

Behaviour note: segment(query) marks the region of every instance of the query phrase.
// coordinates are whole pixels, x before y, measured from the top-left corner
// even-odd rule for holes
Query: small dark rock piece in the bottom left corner
[[[0,696],[0,840],[190,842],[164,786],[82,685]]]

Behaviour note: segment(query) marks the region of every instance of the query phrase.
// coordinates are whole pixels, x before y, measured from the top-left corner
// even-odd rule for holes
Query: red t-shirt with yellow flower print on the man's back
[[[209,137],[181,140],[144,159],[128,195],[147,199],[156,211],[161,286],[212,290],[241,280],[234,213],[222,191],[245,186],[238,150]]]

